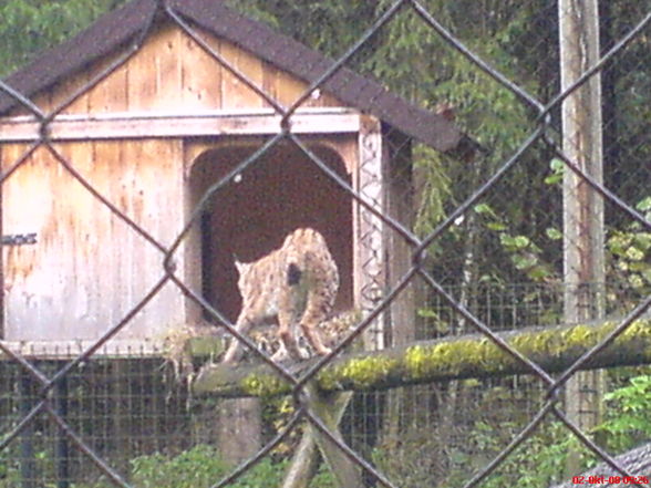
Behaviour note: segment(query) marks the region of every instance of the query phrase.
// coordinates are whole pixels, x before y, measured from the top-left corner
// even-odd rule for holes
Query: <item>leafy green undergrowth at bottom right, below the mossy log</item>
[[[620,368],[623,370],[623,368]],[[648,368],[637,368],[644,372]],[[463,390],[478,393],[484,385],[464,382]],[[446,445],[436,432],[422,429],[405,433],[399,446],[380,446],[373,460],[399,486],[455,487],[466,482],[483,469],[524,428],[526,416],[510,419],[496,418],[494,404],[503,399],[513,402],[512,394],[499,386],[479,394],[477,418],[471,426],[459,427],[463,444]],[[651,376],[634,375],[606,395],[609,408],[604,420],[592,429],[590,437],[610,454],[621,454],[651,438]],[[517,398],[516,398],[517,401]],[[489,405],[493,407],[489,408]],[[490,418],[490,415],[494,417]],[[421,432],[418,432],[421,430]],[[434,434],[434,435],[432,435]],[[585,470],[601,460],[585,447],[567,427],[549,414],[534,435],[525,440],[484,481],[482,486],[502,488],[517,485],[524,488],[547,488],[565,480],[569,453],[579,453]]]

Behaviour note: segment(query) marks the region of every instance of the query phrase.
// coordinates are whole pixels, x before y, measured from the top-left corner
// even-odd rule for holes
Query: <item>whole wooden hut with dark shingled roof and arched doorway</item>
[[[164,250],[204,191],[283,129],[273,104],[291,106],[332,65],[220,2],[169,3],[186,25],[135,0],[9,76],[42,114],[0,90],[2,339],[17,351],[74,353],[123,321],[165,280]],[[465,141],[446,117],[347,69],[290,124],[335,175],[407,225],[409,153],[396,157],[389,138],[442,152]],[[392,176],[396,165],[406,177]],[[175,276],[235,320],[232,255],[256,259],[299,226],[329,242],[339,308],[370,307],[406,266],[404,242],[283,142],[217,191],[175,252]],[[154,352],[198,314],[167,280],[100,352]]]

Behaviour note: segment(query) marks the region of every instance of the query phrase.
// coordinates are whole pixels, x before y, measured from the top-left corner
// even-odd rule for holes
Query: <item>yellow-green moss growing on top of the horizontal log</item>
[[[602,324],[579,324],[565,329],[540,329],[510,333],[506,340],[520,354],[539,364],[554,365],[556,359],[567,361],[593,347],[617,326],[609,321]],[[638,320],[616,340],[621,351],[636,347],[636,361],[651,361],[651,321]],[[640,355],[640,347],[643,349]],[[318,376],[322,391],[342,388],[368,390],[405,383],[436,381],[443,377],[479,377],[521,371],[514,367],[517,360],[503,351],[488,338],[451,339],[438,343],[416,343],[407,346],[402,355],[397,352],[373,353],[366,357],[350,357],[326,366]],[[208,376],[209,378],[210,376]],[[211,383],[202,385],[202,391],[218,390],[228,384],[228,375],[216,375]],[[246,395],[272,396],[291,391],[291,384],[281,376],[268,372],[247,375],[238,385],[230,385],[228,393],[240,391]]]

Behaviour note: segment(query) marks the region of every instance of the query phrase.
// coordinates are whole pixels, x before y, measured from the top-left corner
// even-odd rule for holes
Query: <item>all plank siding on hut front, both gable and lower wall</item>
[[[235,45],[210,45],[285,105],[307,84]],[[34,97],[54,110],[117,56],[107,56]],[[339,106],[329,95],[306,106]],[[157,28],[125,65],[68,106],[65,114],[128,111],[260,108],[267,103],[170,25]],[[18,111],[13,115],[20,114]],[[163,245],[183,226],[188,201],[180,139],[55,144],[87,180]],[[24,145],[3,145],[2,169]],[[186,163],[187,164],[187,163]],[[162,276],[162,255],[100,204],[44,147],[2,187],[4,233],[37,232],[34,246],[4,247],[4,339],[94,339],[124,314]],[[184,257],[178,252],[178,272]],[[179,291],[167,285],[121,334],[156,338],[186,319]]]

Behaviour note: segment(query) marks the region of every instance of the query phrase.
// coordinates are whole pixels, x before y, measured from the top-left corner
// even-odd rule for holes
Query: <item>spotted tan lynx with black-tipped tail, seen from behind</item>
[[[326,355],[318,328],[332,310],[339,290],[339,272],[326,239],[314,229],[297,229],[286,237],[280,249],[254,262],[238,262],[238,287],[242,308],[236,329],[246,334],[252,328],[277,319],[280,349],[275,360],[304,357],[296,329],[300,326],[307,342]],[[224,362],[237,361],[241,344],[232,340]]]

